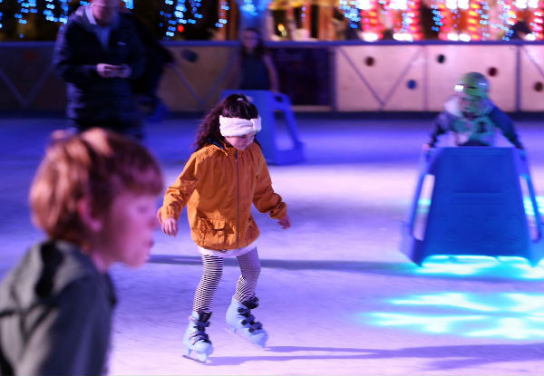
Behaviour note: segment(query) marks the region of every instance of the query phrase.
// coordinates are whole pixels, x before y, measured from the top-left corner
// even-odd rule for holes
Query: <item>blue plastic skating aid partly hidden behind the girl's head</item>
[[[257,107],[262,124],[262,130],[258,132],[257,140],[263,148],[267,163],[287,165],[304,160],[304,144],[298,135],[295,114],[287,95],[267,90],[229,90],[222,92],[221,97],[225,98],[229,94],[244,94]],[[276,111],[284,113],[288,135],[292,142],[290,149],[279,149],[277,147],[277,121],[274,114]]]

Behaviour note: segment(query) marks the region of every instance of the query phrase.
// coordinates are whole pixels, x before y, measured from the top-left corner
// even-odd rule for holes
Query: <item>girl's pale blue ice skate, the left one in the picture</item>
[[[197,353],[197,359],[200,362],[206,362],[209,355],[213,352],[213,347],[209,341],[206,328],[209,326],[210,312],[193,312],[189,316],[189,325],[183,336],[183,344],[187,347],[186,356],[190,357],[191,352]]]

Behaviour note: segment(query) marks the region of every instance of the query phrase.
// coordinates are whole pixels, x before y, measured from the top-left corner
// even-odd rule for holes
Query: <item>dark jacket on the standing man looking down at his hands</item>
[[[67,84],[66,114],[76,121],[121,124],[136,121],[138,112],[131,93],[131,79],[141,75],[145,63],[138,33],[122,14],[112,24],[107,49],[94,33],[94,25],[85,14],[85,6],[77,9],[61,28],[53,52],[55,72]],[[98,63],[131,66],[131,77],[102,78]]]

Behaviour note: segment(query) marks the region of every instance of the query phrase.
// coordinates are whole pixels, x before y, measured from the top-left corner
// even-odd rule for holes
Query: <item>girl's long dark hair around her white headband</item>
[[[224,142],[225,138],[219,131],[219,115],[226,118],[255,119],[258,117],[257,107],[248,101],[244,94],[230,94],[219,101],[200,123],[193,144],[195,150],[204,148],[214,142]]]

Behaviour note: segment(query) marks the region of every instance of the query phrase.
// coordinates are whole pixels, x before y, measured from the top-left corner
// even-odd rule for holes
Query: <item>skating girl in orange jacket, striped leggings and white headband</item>
[[[241,94],[231,94],[211,110],[197,130],[196,151],[166,191],[158,217],[162,231],[175,236],[187,205],[192,239],[199,247],[203,274],[183,338],[187,355],[205,362],[213,351],[205,328],[223,271],[224,257],[236,256],[241,275],[227,311],[227,323],[250,342],[265,346],[267,332],[251,309],[260,264],[253,242],[259,235],[251,205],[291,226],[287,205],[272,189],[267,162],[254,140],[261,129],[257,108]]]

